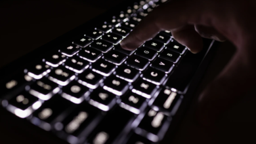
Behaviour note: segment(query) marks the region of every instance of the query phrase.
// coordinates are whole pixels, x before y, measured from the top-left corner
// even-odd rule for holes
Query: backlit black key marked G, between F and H
[[[135,54],[151,61],[156,57],[158,52],[156,52],[156,50],[152,50],[150,48],[146,48],[142,46],[137,50]]]

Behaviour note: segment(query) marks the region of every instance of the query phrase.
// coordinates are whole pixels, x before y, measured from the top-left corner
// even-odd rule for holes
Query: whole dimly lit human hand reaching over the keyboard
[[[171,30],[173,37],[193,53],[202,50],[202,37],[231,41],[236,54],[199,98],[198,118],[203,125],[211,125],[256,85],[255,18],[254,0],[169,1],[150,12],[121,46],[134,50],[162,30]]]

